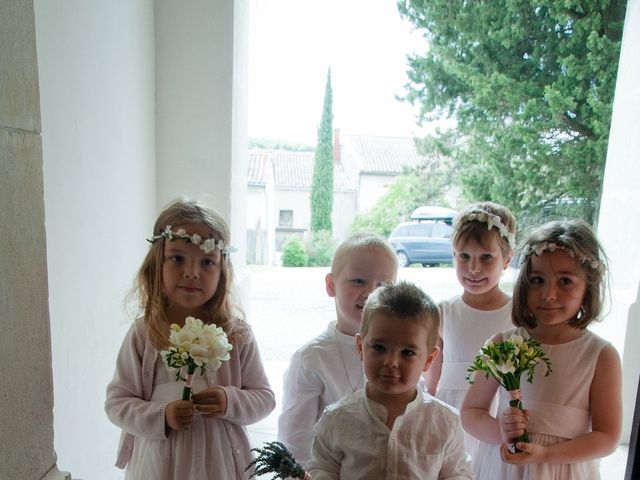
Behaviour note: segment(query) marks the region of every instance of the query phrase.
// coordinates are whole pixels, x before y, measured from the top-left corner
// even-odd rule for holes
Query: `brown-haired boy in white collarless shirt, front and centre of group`
[[[472,479],[458,413],[418,387],[438,355],[438,308],[409,282],[376,289],[356,348],[365,388],[327,407],[308,472],[324,479]]]

